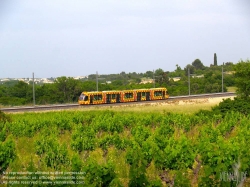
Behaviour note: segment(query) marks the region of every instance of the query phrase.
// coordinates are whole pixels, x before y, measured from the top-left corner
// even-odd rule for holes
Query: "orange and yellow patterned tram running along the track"
[[[122,91],[102,91],[102,92],[82,92],[78,103],[80,105],[89,104],[109,104],[125,103],[134,101],[152,101],[168,99],[166,88],[151,88]]]

